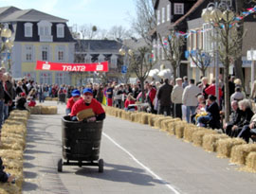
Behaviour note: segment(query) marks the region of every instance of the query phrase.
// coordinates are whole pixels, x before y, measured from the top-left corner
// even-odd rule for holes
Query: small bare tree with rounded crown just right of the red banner
[[[137,48],[130,57],[131,70],[135,72],[141,84],[142,102],[144,102],[145,99],[144,81],[148,78],[150,70],[155,65],[151,55],[151,47],[143,46]]]

